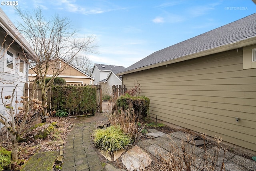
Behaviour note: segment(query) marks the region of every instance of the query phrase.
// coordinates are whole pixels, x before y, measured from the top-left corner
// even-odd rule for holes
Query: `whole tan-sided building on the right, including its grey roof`
[[[256,151],[255,51],[253,14],[155,52],[118,75],[127,88],[138,81],[154,120]]]

